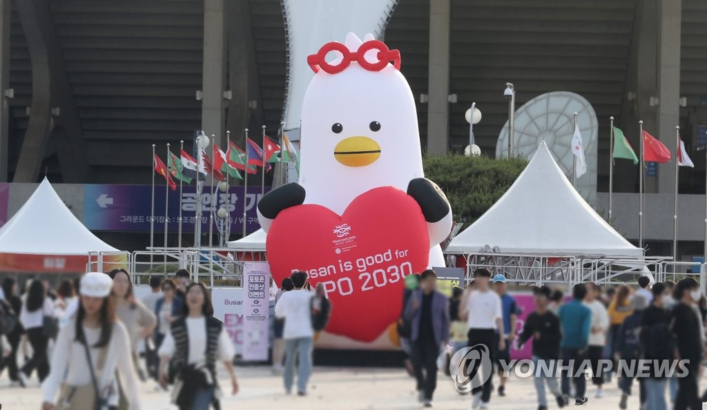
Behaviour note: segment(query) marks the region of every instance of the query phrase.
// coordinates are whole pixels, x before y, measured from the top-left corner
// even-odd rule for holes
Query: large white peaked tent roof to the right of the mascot
[[[641,257],[577,193],[543,141],[506,194],[457,235],[448,253],[597,255]]]

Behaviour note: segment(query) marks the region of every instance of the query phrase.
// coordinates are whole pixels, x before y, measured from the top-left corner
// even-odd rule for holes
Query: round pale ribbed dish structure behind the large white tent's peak
[[[545,141],[557,160],[557,165],[569,178],[572,177],[574,115],[582,134],[587,173],[577,178],[577,190],[594,201],[597,196],[597,115],[590,102],[583,96],[569,91],[554,91],[533,98],[515,111],[513,153],[532,158],[537,147]],[[508,155],[508,121],[503,125],[496,143],[496,158]]]

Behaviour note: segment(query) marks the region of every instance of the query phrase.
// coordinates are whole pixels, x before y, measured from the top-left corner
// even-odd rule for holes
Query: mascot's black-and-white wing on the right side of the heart
[[[407,194],[420,206],[430,234],[430,245],[437,245],[452,230],[452,207],[442,189],[427,178],[415,178],[407,185]]]

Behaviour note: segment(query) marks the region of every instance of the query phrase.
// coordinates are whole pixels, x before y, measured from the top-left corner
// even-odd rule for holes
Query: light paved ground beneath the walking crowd
[[[287,396],[281,387],[281,378],[271,375],[267,367],[237,368],[241,392],[223,398],[223,409],[420,409],[416,402],[414,382],[402,369],[392,368],[342,368],[317,367],[312,375],[307,397]],[[222,385],[227,385],[223,379]],[[705,383],[703,382],[703,385]],[[583,409],[618,409],[619,389],[616,383],[605,387],[602,399],[595,399],[594,387],[590,387],[590,401]],[[230,392],[229,392],[230,393]],[[537,409],[532,380],[512,376],[508,382],[507,397],[491,399],[491,409],[534,410]],[[10,387],[6,374],[0,377],[0,404],[3,410],[40,409],[41,392],[36,381],[30,387]],[[170,406],[168,394],[158,392],[153,383],[141,389],[142,409],[167,410]],[[469,409],[471,399],[458,394],[452,382],[440,373],[434,401],[435,409]],[[556,409],[551,403],[550,409]],[[569,406],[574,409],[575,406]],[[638,409],[634,395],[629,409]]]

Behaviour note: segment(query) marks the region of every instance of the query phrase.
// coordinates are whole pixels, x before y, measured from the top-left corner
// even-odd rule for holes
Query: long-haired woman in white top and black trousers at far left
[[[32,357],[18,373],[18,381],[22,387],[27,387],[27,379],[32,375],[33,370],[37,370],[40,382],[49,374],[47,360],[49,335],[46,334],[44,327],[45,317],[54,317],[53,315],[54,306],[52,300],[47,297],[44,284],[38,280],[32,281],[20,312],[20,322],[32,346]]]

